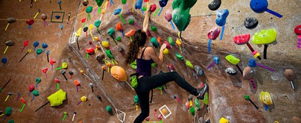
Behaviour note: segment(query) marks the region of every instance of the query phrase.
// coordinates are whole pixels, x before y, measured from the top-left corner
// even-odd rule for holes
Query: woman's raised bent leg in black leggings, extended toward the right
[[[145,78],[143,85],[144,85],[145,90],[151,90],[151,89],[163,86],[164,84],[166,84],[170,81],[175,81],[181,88],[183,88],[190,94],[193,94],[195,96],[197,96],[199,94],[197,92],[197,89],[192,87],[187,81],[185,81],[185,79],[183,77],[181,77],[178,74],[178,72],[175,72],[175,71],[147,77],[147,78]],[[144,89],[142,89],[142,90],[144,90]]]

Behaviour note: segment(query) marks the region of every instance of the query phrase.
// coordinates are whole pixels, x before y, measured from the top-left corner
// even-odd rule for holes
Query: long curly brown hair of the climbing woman
[[[132,63],[138,56],[139,47],[144,46],[147,40],[146,32],[138,30],[134,33],[134,39],[130,43],[125,62]]]

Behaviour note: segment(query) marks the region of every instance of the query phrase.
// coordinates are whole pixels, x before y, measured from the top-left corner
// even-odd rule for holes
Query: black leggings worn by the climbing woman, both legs
[[[184,80],[177,72],[168,72],[151,77],[141,77],[138,79],[138,86],[135,92],[138,95],[141,113],[135,119],[134,123],[142,123],[150,114],[150,99],[149,94],[152,89],[165,85],[170,81],[175,81],[181,88],[193,94],[198,95],[197,89],[193,88],[187,81]]]

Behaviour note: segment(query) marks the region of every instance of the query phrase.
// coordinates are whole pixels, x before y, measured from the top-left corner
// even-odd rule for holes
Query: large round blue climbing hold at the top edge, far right
[[[251,0],[250,7],[255,13],[263,13],[268,9],[268,0]]]

